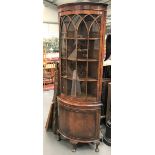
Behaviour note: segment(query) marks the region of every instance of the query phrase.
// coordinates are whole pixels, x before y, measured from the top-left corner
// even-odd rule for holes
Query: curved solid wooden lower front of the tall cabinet
[[[75,110],[59,105],[59,128],[63,133],[76,139],[95,139],[99,129],[97,110]],[[99,115],[98,115],[99,116]]]

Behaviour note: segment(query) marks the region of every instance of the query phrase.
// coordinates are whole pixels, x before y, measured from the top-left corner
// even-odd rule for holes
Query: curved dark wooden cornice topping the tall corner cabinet
[[[92,3],[92,2],[78,2],[78,3],[66,3],[58,6],[58,11],[72,11],[72,10],[106,10],[107,4],[104,3]]]

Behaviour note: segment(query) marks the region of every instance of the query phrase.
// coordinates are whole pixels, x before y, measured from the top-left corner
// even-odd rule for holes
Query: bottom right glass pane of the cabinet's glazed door
[[[87,98],[91,99],[97,96],[97,82],[87,83]]]

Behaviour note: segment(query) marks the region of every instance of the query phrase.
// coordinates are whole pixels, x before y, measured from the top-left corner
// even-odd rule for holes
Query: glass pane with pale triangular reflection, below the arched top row
[[[76,41],[74,39],[67,40],[67,54],[69,60],[76,60],[77,50],[76,50]]]

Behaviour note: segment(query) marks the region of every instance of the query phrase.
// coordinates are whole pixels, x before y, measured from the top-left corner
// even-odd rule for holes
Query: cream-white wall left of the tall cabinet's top
[[[51,22],[57,24],[51,24]],[[43,6],[43,38],[59,37],[58,10],[54,5]]]

